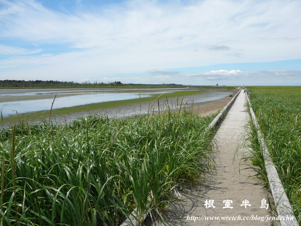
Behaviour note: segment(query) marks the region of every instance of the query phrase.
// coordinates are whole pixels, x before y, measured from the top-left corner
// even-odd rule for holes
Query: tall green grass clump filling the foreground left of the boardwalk
[[[21,124],[0,133],[1,225],[118,225],[162,213],[176,187],[214,163],[215,115],[188,111],[67,125]]]

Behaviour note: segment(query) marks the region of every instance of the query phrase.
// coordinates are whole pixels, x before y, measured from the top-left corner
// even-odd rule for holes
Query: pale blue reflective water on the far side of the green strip
[[[129,89],[102,89],[102,90],[57,90],[57,91],[44,91],[44,92],[20,92],[20,93],[3,93],[0,96],[32,96],[32,95],[48,95],[43,99],[34,100],[21,100],[21,101],[8,101],[0,102],[0,109],[2,110],[2,117],[8,117],[10,115],[15,115],[16,110],[18,114],[23,114],[27,112],[39,111],[39,110],[49,110],[51,108],[53,98],[55,94],[68,93],[68,96],[57,95],[53,109],[85,105],[89,103],[101,103],[106,101],[116,101],[125,99],[139,98],[139,92],[124,92]],[[133,91],[139,90],[140,97],[150,97],[151,95],[158,93],[169,93],[172,90],[160,90],[160,89],[130,89]],[[158,91],[160,90],[160,91]],[[181,90],[177,90],[181,91]],[[52,95],[52,98],[49,98]]]

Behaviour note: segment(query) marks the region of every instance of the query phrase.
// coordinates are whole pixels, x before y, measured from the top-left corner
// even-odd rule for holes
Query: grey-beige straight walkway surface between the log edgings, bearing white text
[[[185,202],[172,207],[174,209],[167,213],[167,222],[153,225],[271,225],[271,220],[266,221],[266,217],[270,217],[269,209],[261,208],[265,206],[262,200],[267,200],[267,192],[257,178],[250,177],[254,172],[244,169],[247,166],[240,161],[244,150],[239,148],[239,141],[249,117],[245,103],[245,93],[240,92],[214,137],[218,145],[216,175],[182,193]]]

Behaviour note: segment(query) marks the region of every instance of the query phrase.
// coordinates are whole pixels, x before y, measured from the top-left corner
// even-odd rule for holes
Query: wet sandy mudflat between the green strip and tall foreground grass
[[[226,89],[222,89],[222,88],[221,89],[205,89],[205,90],[206,91],[201,94],[185,96],[188,106],[191,106],[192,99],[194,99],[193,112],[195,112],[196,114],[199,114],[201,116],[207,116],[209,114],[213,114],[213,113],[217,112],[219,109],[223,108],[228,103],[228,101],[231,100],[232,97],[230,97],[229,95],[234,95],[237,92],[237,90],[226,90]],[[24,91],[27,91],[27,92],[30,92],[30,91],[37,92],[38,91],[39,92],[39,91],[46,91],[46,90],[45,89],[35,89],[35,90],[6,89],[6,90],[1,90],[0,89],[0,94],[2,94],[2,93],[24,93]],[[47,90],[47,91],[50,91],[50,90]],[[63,92],[71,91],[71,89],[63,89],[60,91],[63,91]],[[75,90],[72,89],[72,91],[75,91]],[[80,90],[77,90],[77,91],[80,91]],[[81,89],[81,91],[83,91],[83,90]],[[95,90],[90,89],[89,91],[93,92]],[[66,95],[68,95],[68,94],[66,94]],[[51,96],[53,97],[54,95],[52,94]],[[218,96],[226,96],[226,97],[218,99],[218,100],[204,101],[206,99],[219,98]],[[13,97],[15,97],[15,96],[13,96]],[[29,97],[33,98],[33,97],[37,97],[37,95],[29,96]],[[181,97],[181,98],[184,98],[184,97]],[[181,103],[181,98],[179,97],[179,103]],[[176,105],[175,105],[176,100],[177,100],[177,98],[175,98],[175,97],[168,99],[169,105],[172,106],[173,109],[176,108]],[[105,115],[109,118],[115,118],[115,117],[126,118],[126,117],[133,117],[133,116],[140,115],[140,114],[147,114],[147,113],[152,113],[152,112],[158,111],[158,104],[156,102],[153,106],[153,109],[150,109],[150,111],[147,112],[148,108],[149,108],[149,104],[152,104],[152,103],[149,103],[148,101],[146,101],[146,102],[141,102],[141,103],[137,102],[134,104],[124,104],[124,105],[120,105],[120,106],[101,108],[101,109],[90,109],[90,110],[87,109],[84,111],[74,111],[74,112],[68,111],[68,113],[66,113],[66,114],[56,114],[55,112],[53,112],[52,120],[54,123],[65,124],[65,123],[72,122],[85,115],[89,115],[89,114]],[[166,105],[167,105],[166,100],[164,100],[164,99],[160,100],[161,110],[163,110],[166,107]],[[47,120],[47,118],[49,118],[49,113],[44,114],[44,116],[43,115],[39,116],[39,111],[38,111],[38,112],[33,112],[33,114],[28,113],[27,116],[28,117],[25,119],[25,122],[32,124],[35,122],[41,122],[41,121]],[[10,117],[9,120],[7,120],[6,122],[3,122],[2,126],[4,128],[7,128],[7,127],[12,126],[14,123],[18,123],[19,119],[18,118],[15,119],[15,118]],[[23,118],[22,118],[22,120],[23,120]]]

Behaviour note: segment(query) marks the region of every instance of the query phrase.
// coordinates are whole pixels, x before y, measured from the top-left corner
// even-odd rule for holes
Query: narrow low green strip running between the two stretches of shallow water
[[[101,103],[91,103],[91,104],[85,104],[85,105],[79,105],[79,106],[73,106],[73,107],[63,107],[58,109],[52,110],[52,115],[54,117],[60,117],[60,116],[66,116],[71,114],[76,114],[82,112],[83,115],[87,112],[91,112],[93,110],[97,109],[106,109],[110,107],[117,107],[122,106],[126,104],[135,104],[139,103],[140,101],[154,101],[157,98],[159,99],[166,99],[166,98],[172,98],[177,96],[189,96],[189,95],[197,95],[199,93],[204,92],[205,90],[186,90],[186,91],[177,91],[172,93],[165,93],[163,95],[156,94],[152,97],[142,97],[142,98],[136,98],[136,99],[126,99],[126,100],[117,100],[117,101],[107,101],[107,102],[101,102]],[[137,92],[137,90],[135,90]],[[50,107],[49,107],[50,108]],[[17,123],[19,121],[24,122],[30,122],[30,121],[37,121],[37,120],[46,120],[49,118],[49,110],[43,110],[43,111],[37,111],[37,112],[29,112],[22,115],[10,116],[6,118],[2,118],[2,124],[11,124]]]

